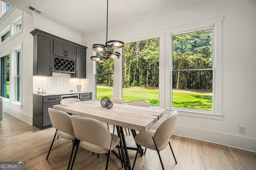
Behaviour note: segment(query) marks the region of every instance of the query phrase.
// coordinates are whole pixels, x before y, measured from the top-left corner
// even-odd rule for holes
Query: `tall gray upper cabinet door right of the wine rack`
[[[76,74],[71,74],[73,78],[86,78],[86,50],[76,48]]]

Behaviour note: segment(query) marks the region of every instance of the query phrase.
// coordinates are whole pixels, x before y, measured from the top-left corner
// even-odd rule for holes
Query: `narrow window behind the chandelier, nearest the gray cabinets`
[[[96,55],[104,56],[97,52]],[[96,62],[96,99],[113,98],[114,60]]]

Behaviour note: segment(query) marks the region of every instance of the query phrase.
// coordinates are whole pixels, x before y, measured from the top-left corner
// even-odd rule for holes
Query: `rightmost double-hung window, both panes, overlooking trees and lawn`
[[[213,29],[172,35],[171,108],[214,112]]]

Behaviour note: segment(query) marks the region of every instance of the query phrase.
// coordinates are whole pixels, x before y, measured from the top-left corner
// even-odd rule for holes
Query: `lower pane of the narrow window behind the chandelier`
[[[113,98],[113,74],[96,74],[96,99]]]

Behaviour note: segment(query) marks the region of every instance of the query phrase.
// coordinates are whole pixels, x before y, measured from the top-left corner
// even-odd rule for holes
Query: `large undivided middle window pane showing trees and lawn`
[[[159,105],[159,38],[127,43],[122,55],[122,98]]]

